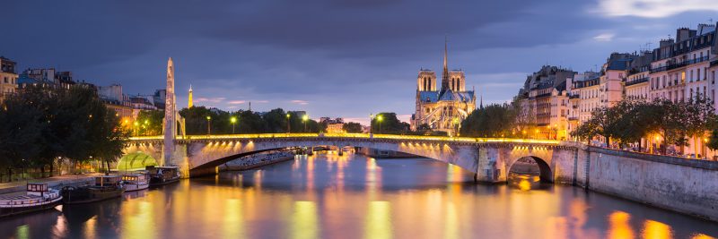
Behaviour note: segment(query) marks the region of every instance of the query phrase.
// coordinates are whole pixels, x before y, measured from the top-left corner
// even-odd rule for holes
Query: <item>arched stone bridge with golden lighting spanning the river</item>
[[[162,157],[162,136],[132,138],[125,154],[143,152]],[[520,139],[477,139],[462,137],[405,136],[362,133],[275,133],[195,135],[174,140],[171,162],[180,166],[183,176],[215,173],[215,167],[234,158],[271,149],[290,147],[366,147],[392,150],[433,158],[460,166],[486,183],[505,182],[509,169],[520,158],[533,158],[541,170],[541,180],[562,184],[582,181],[585,147],[574,142]]]

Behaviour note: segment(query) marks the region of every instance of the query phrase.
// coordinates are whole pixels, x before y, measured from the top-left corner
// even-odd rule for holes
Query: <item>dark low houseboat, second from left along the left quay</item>
[[[66,186],[62,189],[63,202],[66,204],[87,203],[117,198],[125,192],[122,177],[102,175],[95,177],[94,185]]]

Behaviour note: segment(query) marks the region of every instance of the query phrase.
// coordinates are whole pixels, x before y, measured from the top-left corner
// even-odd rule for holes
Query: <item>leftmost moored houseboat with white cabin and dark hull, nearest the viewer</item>
[[[59,190],[48,184],[27,185],[26,193],[11,193],[0,197],[0,218],[44,209],[53,209],[62,202]]]

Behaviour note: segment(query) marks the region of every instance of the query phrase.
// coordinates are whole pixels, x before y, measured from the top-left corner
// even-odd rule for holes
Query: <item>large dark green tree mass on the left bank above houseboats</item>
[[[127,142],[118,115],[87,87],[27,86],[0,110],[0,165],[52,166],[57,158],[117,160]]]

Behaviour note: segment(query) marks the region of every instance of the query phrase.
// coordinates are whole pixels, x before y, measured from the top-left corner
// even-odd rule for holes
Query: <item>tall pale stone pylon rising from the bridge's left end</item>
[[[164,99],[164,144],[162,144],[162,166],[172,165],[172,152],[174,152],[174,140],[177,136],[177,120],[175,116],[174,98],[174,64],[172,58],[167,61],[167,89]]]

